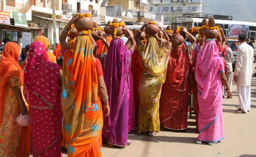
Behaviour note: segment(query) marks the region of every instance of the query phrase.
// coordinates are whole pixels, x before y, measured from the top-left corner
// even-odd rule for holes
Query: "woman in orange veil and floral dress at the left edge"
[[[15,156],[15,149],[21,135],[21,126],[16,122],[16,118],[20,113],[23,115],[27,113],[20,90],[23,85],[23,71],[18,64],[20,52],[18,44],[8,42],[4,46],[0,60],[1,157]]]

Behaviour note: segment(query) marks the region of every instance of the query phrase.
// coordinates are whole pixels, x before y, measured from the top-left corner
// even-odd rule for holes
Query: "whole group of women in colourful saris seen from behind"
[[[221,53],[225,36],[205,39],[199,28],[163,29],[141,39],[149,21],[134,34],[120,21],[127,37],[98,30],[66,41],[74,16],[54,52],[39,36],[25,47],[8,42],[0,60],[0,156],[100,157],[102,142],[124,148],[128,133],[155,136],[160,125],[186,130],[194,109],[197,143],[214,145],[224,138],[222,85],[229,90]],[[105,37],[104,37],[105,36]],[[201,36],[201,37],[200,37]],[[20,55],[20,58],[19,58]],[[58,64],[56,64],[56,59]],[[18,64],[18,60],[20,61]],[[189,105],[192,100],[193,105]],[[29,108],[29,109],[28,109]],[[200,111],[200,112],[199,112]],[[20,126],[19,115],[31,117]],[[31,135],[31,138],[30,138]]]

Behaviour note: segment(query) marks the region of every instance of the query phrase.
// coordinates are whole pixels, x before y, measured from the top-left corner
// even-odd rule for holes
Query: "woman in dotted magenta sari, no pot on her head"
[[[61,75],[60,66],[48,59],[44,45],[30,46],[24,71],[24,97],[32,121],[34,157],[61,157]]]

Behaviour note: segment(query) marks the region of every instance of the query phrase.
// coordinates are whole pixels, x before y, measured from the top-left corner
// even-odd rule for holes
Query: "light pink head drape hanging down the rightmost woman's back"
[[[198,83],[198,90],[201,92],[201,97],[206,99],[209,88],[212,84],[214,62],[216,56],[219,56],[219,51],[215,41],[206,41],[201,51],[197,55],[197,65],[195,70],[195,79]]]

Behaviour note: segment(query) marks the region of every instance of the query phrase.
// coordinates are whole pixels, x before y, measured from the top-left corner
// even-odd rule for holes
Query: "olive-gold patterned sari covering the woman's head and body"
[[[138,112],[139,131],[159,131],[159,99],[165,82],[166,68],[172,44],[161,40],[160,48],[154,37],[149,37],[144,46],[139,47],[140,77]]]

